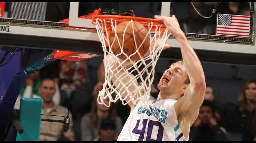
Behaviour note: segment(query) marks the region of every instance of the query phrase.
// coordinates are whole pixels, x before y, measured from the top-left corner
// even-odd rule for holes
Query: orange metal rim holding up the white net
[[[117,22],[117,24],[124,22],[124,21],[135,21],[135,22],[139,22],[142,25],[145,26],[146,29],[149,30],[149,24],[151,27],[151,23],[152,23],[152,28],[151,28],[151,32],[155,31],[156,26],[158,26],[158,28],[161,26],[160,31],[165,31],[166,27],[164,26],[164,23],[159,20],[159,19],[154,19],[154,18],[144,18],[144,17],[135,17],[135,16],[120,16],[120,15],[93,15],[92,16],[92,24],[95,25],[96,19],[101,19],[102,21],[105,20],[106,22],[106,27],[109,29],[112,29],[111,27],[111,19],[112,22],[115,24],[115,22]],[[104,24],[104,22],[103,22]]]

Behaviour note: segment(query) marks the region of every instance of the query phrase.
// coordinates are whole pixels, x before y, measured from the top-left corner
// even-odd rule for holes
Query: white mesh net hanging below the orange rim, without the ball
[[[130,20],[130,22],[133,22],[133,20]],[[129,25],[130,22],[127,25]],[[114,30],[114,32],[116,33],[116,20],[111,19],[110,24],[112,30]],[[155,34],[151,39],[150,31],[153,27],[153,22],[149,23],[149,32],[145,36],[146,39],[147,36],[150,35],[151,39],[151,48],[149,48],[149,55],[144,56],[139,54],[138,49],[143,48],[142,45],[145,41],[144,39],[141,45],[137,45],[135,41],[137,51],[135,51],[132,55],[128,56],[126,53],[124,53],[122,46],[123,43],[119,41],[117,34],[115,34],[114,39],[118,40],[119,46],[121,47],[121,53],[117,55],[113,54],[113,51],[111,50],[113,44],[110,45],[108,37],[109,35],[105,34],[105,31],[103,30],[107,29],[105,19],[101,20],[97,18],[95,21],[95,25],[97,28],[98,36],[102,43],[105,59],[105,82],[103,84],[103,89],[98,94],[98,103],[104,104],[109,107],[110,104],[105,104],[103,102],[103,100],[107,97],[110,98],[110,102],[117,102],[120,99],[123,105],[126,105],[129,102],[132,102],[133,105],[137,105],[138,101],[142,101],[143,107],[151,111],[149,109],[148,99],[150,97],[151,85],[154,80],[156,62],[159,59],[160,53],[162,52],[168,37],[170,36],[170,34],[167,33],[167,29],[162,32],[160,36],[160,34],[156,33],[160,33],[160,29],[164,28],[164,25],[157,25],[155,28]],[[133,24],[131,23],[131,25]],[[124,30],[124,33],[126,29]],[[125,34],[123,34],[123,36],[124,35]],[[134,28],[133,37],[135,37]],[[133,39],[135,40],[135,38]],[[109,48],[106,47],[106,42],[108,43]],[[130,57],[135,55],[136,53],[139,54],[140,59],[138,61],[132,61]],[[122,61],[118,58],[118,56],[120,55],[126,56],[126,59]],[[128,64],[129,66],[127,67],[126,65]],[[112,82],[112,80],[114,80],[114,82]],[[126,99],[127,101],[125,101]]]

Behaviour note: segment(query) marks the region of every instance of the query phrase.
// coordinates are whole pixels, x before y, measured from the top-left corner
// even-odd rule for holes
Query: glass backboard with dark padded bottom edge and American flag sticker
[[[233,2],[239,7],[239,11],[233,13],[226,10],[229,2],[218,2],[216,12],[210,17],[216,3],[5,2],[4,15],[0,17],[0,45],[102,55],[103,51],[95,25],[92,24],[91,19],[79,17],[88,15],[98,8],[117,11],[133,10],[135,16],[147,18],[153,18],[156,14],[164,16],[174,14],[202,61],[256,64],[253,62],[256,60],[251,60],[256,54],[255,2],[241,2],[243,4]],[[230,19],[223,20],[223,17]],[[66,18],[69,18],[68,23],[59,22]],[[234,21],[234,19],[238,20]],[[230,25],[225,25],[225,21],[229,20]],[[191,21],[194,22],[191,23]],[[234,22],[240,25],[235,27]],[[219,29],[225,26],[229,29]],[[66,29],[70,27],[73,29]],[[181,58],[176,39],[170,36],[167,43],[173,48],[162,52],[161,58]],[[217,55],[220,57],[216,58]]]

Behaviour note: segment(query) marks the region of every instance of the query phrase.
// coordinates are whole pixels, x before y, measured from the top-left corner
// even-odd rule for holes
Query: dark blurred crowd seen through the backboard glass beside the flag
[[[217,14],[229,14],[229,15],[245,15],[250,16],[250,3],[251,2],[219,2],[216,12],[212,17],[212,11],[217,2],[193,2],[196,10],[204,17],[200,16],[194,9],[191,2],[187,3],[187,14],[188,17],[180,19],[180,27],[185,33],[197,33],[197,34],[210,34],[215,35],[216,33],[216,22]],[[161,5],[157,8],[157,13],[161,14]],[[178,18],[179,13],[176,13],[175,6],[171,3],[170,16],[176,15]],[[153,16],[151,18],[154,18]]]

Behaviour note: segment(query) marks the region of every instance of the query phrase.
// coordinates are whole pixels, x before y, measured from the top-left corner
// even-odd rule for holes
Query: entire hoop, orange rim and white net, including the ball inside
[[[106,105],[103,99],[109,97],[110,102],[121,100],[123,105],[142,101],[149,109],[154,68],[170,36],[165,25],[158,19],[120,15],[94,15],[92,23],[96,25],[105,62],[105,82],[98,103]]]

